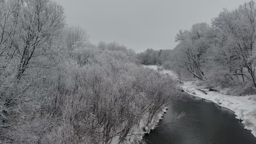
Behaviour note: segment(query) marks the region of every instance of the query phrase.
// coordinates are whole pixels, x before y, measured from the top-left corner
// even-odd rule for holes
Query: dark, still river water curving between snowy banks
[[[185,112],[170,123],[174,113]],[[256,144],[256,138],[237,121],[233,111],[186,95],[169,106],[163,121],[144,138],[154,144]]]

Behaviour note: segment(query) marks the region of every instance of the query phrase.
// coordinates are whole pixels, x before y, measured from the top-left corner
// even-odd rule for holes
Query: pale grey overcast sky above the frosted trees
[[[250,0],[55,0],[65,8],[67,23],[81,26],[92,43],[117,42],[137,52],[173,49],[180,29],[211,22],[226,7]]]

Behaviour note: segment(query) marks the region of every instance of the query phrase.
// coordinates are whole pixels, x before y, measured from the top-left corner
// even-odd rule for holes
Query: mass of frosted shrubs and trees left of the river
[[[125,46],[91,44],[57,3],[0,7],[0,143],[122,143],[173,100],[172,79]]]

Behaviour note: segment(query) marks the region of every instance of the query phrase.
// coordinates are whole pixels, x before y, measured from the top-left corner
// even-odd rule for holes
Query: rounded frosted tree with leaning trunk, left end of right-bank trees
[[[176,42],[180,42],[176,49],[183,52],[179,66],[203,81],[205,53],[210,48],[211,38],[214,37],[210,32],[211,28],[206,23],[196,23],[191,30],[180,30],[176,36]]]

